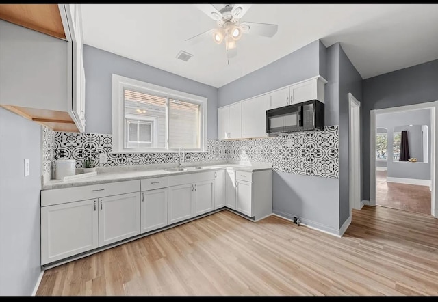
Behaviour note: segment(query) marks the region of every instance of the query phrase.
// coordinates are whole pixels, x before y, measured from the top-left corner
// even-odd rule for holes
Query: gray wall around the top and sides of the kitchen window
[[[208,98],[207,138],[218,139],[218,89],[92,46],[83,46],[86,132],[112,133],[112,74]]]

